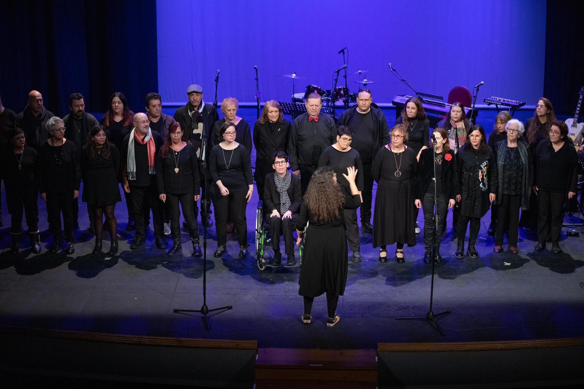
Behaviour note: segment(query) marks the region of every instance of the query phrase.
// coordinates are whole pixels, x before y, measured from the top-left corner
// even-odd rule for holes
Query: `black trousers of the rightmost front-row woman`
[[[537,241],[545,243],[551,236],[552,244],[558,244],[559,233],[562,231],[564,221],[565,193],[538,190],[537,200],[539,204],[537,214]]]

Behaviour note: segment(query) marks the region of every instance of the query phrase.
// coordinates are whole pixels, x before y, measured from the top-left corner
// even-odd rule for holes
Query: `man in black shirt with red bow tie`
[[[294,174],[300,175],[303,195],[312,172],[318,167],[322,151],[336,143],[335,121],[328,114],[321,113],[321,95],[310,93],[305,105],[306,113],[294,119],[288,140],[290,166]]]

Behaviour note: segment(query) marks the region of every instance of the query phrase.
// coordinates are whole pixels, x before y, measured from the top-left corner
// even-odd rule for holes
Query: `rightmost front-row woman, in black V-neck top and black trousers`
[[[533,191],[539,206],[535,249],[545,249],[551,237],[551,250],[559,254],[564,204],[576,196],[578,156],[566,123],[554,120],[550,124],[550,138],[541,141],[533,154]]]

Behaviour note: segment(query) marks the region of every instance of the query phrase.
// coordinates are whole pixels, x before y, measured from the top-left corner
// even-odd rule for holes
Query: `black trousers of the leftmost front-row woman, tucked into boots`
[[[26,225],[29,232],[39,231],[39,191],[19,190],[6,187],[6,205],[11,216],[10,232],[20,234],[22,231],[22,209],[25,209]],[[1,205],[0,205],[1,207]]]

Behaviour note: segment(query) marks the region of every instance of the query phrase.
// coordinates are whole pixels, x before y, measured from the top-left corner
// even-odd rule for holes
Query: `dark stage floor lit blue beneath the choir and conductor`
[[[254,193],[256,196],[256,193]],[[3,194],[3,198],[6,197]],[[207,331],[199,314],[174,313],[174,308],[199,309],[203,304],[203,262],[194,259],[188,235],[182,233],[183,255],[166,256],[154,245],[152,230],[145,247],[130,251],[133,234],[124,231],[126,207],[119,203],[120,253],[92,255],[95,238],[80,205],[81,230],[75,234],[74,255],[47,252],[46,206],[39,200],[43,252],[22,249],[9,254],[10,216],[3,202],[5,226],[0,230],[0,324],[119,334],[177,336],[203,339],[257,340],[261,348],[376,349],[378,342],[449,342],[584,336],[584,238],[566,238],[564,253],[534,252],[534,232],[520,230],[519,255],[493,253],[486,234],[489,214],[479,233],[478,259],[456,259],[450,227],[443,238],[443,263],[434,277],[435,313],[446,332],[439,335],[425,321],[397,321],[423,316],[429,308],[431,265],[422,262],[423,236],[405,248],[405,263],[378,262],[371,235],[361,234],[363,262],[349,261],[345,296],[339,298],[340,322],[328,328],[325,297],[315,299],[312,324],[303,325],[303,299],[298,296],[300,268],[256,266],[253,225],[257,197],[248,204],[250,254],[238,259],[235,235],[228,253],[213,258],[215,228],[209,229],[207,305],[233,305],[213,312]],[[449,214],[450,219],[450,214]],[[418,217],[422,226],[422,213]],[[450,226],[450,222],[449,222]],[[202,231],[202,230],[201,230]],[[25,236],[25,235],[23,235]],[[168,242],[171,239],[168,238]],[[29,240],[23,238],[22,245]],[[504,246],[506,248],[506,246]],[[104,251],[109,237],[104,235]],[[271,252],[269,253],[271,255]],[[284,256],[285,262],[285,256]]]

